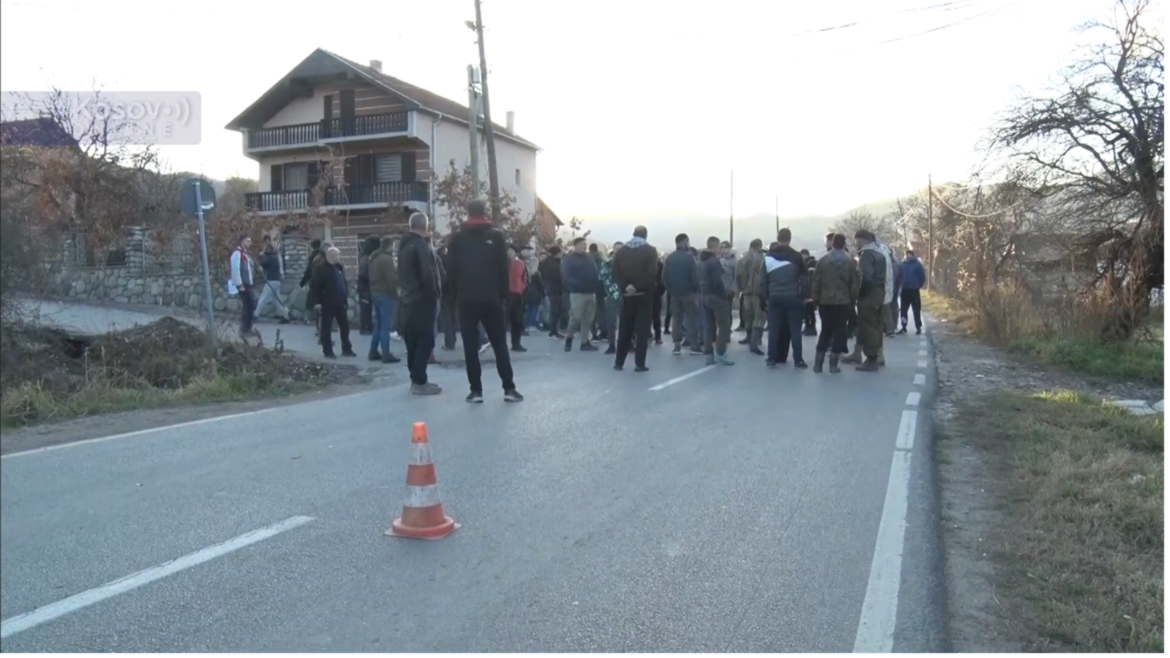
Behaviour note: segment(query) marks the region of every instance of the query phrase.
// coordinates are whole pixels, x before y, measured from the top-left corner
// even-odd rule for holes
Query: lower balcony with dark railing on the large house
[[[284,192],[256,192],[245,196],[249,211],[260,214],[283,214],[305,212],[315,206],[314,197],[321,196],[321,207],[328,211],[378,210],[400,206],[418,206],[420,210],[431,200],[429,184],[372,183],[353,184],[316,190],[292,190]]]

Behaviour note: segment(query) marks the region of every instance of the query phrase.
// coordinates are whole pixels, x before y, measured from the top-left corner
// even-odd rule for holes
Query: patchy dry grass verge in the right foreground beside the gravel
[[[1033,649],[1164,654],[1165,417],[1005,392],[957,420],[996,455],[997,589]]]

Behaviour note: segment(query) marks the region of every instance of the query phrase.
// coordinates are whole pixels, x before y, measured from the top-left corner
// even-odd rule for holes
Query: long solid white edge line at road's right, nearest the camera
[[[878,526],[869,583],[861,604],[854,656],[890,656],[894,653],[894,630],[897,626],[897,597],[902,583],[902,546],[906,541],[906,513],[910,498],[910,464],[917,412],[903,411],[897,444],[889,467],[886,502]],[[903,447],[906,446],[906,447]]]

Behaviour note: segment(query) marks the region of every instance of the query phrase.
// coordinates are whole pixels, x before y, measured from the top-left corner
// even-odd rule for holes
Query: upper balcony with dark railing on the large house
[[[246,151],[256,153],[317,148],[343,142],[408,136],[410,131],[411,112],[337,117],[312,123],[249,130]]]

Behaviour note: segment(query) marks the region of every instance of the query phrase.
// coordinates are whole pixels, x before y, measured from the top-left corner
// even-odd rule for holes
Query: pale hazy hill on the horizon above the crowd
[[[904,197],[903,197],[904,198]],[[823,248],[825,233],[828,232],[833,222],[846,217],[855,210],[866,208],[870,213],[881,217],[897,207],[897,197],[879,199],[856,208],[851,208],[844,213],[826,215],[803,215],[780,218],[780,227],[792,231],[792,246],[798,249],[814,251]],[[674,237],[679,233],[690,235],[690,241],[695,246],[709,235],[718,235],[727,239],[729,233],[729,221],[727,217],[716,217],[703,213],[632,213],[624,215],[608,215],[598,218],[585,218],[585,228],[592,231],[590,241],[601,245],[612,245],[615,241],[629,238],[631,231],[636,225],[645,225],[649,229],[651,244],[662,251],[674,248]],[[766,245],[776,238],[776,215],[769,213],[756,213],[735,219],[735,247],[746,249],[751,241],[759,238]]]

